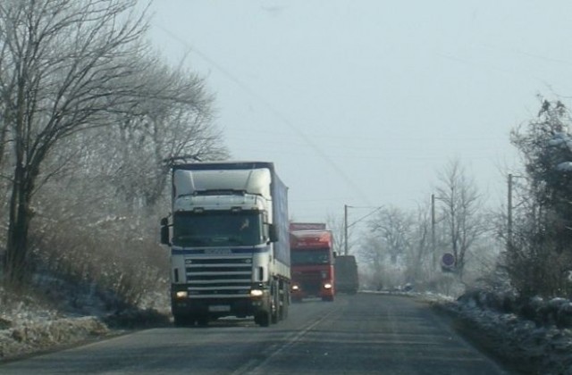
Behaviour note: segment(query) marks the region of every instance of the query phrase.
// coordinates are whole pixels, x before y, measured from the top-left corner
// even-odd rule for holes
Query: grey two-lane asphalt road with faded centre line
[[[404,296],[305,301],[269,328],[221,320],[147,329],[0,365],[0,374],[506,374]]]

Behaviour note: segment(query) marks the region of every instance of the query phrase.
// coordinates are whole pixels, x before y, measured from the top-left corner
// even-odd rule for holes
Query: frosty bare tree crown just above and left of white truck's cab
[[[171,71],[156,62],[145,71],[149,98],[138,111],[123,112],[106,134],[105,148],[116,156],[117,192],[132,204],[153,207],[164,194],[173,158],[213,160],[228,157],[222,134],[212,121],[212,96],[204,80],[186,71]],[[139,203],[135,201],[139,200]]]

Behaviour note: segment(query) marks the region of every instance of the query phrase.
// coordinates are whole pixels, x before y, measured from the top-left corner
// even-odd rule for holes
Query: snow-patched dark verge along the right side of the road
[[[514,296],[482,290],[458,298],[403,290],[370,293],[413,296],[447,312],[460,334],[519,373],[572,375],[572,302],[566,299],[517,303]]]

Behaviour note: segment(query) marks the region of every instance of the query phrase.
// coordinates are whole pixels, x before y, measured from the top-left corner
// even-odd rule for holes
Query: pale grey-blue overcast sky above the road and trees
[[[153,43],[206,78],[237,160],[274,162],[297,221],[429,201],[457,158],[501,204],[509,131],[572,105],[572,2],[155,0]]]

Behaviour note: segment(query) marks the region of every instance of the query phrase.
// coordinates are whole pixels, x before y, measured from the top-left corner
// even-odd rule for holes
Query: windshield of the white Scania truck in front
[[[255,246],[263,242],[260,212],[176,212],[172,243],[177,246]]]

